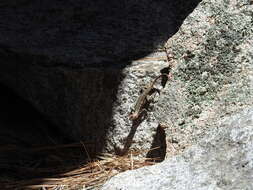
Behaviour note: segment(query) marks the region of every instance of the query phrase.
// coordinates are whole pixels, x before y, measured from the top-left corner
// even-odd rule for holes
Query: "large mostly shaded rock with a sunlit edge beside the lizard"
[[[1,1],[0,81],[69,138],[96,152],[124,149],[140,87],[167,67],[159,52],[139,59],[158,51],[198,2]],[[157,125],[142,124],[137,148],[150,148]]]

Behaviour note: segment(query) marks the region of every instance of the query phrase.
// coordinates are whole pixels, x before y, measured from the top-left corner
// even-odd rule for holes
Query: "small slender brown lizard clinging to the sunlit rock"
[[[136,120],[140,117],[140,115],[142,114],[142,112],[145,110],[143,107],[146,105],[146,103],[148,102],[148,96],[150,94],[152,94],[152,90],[154,89],[154,84],[156,83],[156,81],[163,77],[166,76],[169,78],[169,76],[167,74],[161,74],[158,77],[156,77],[148,86],[147,88],[141,93],[141,95],[139,96],[139,98],[136,101],[136,104],[134,106],[134,109],[132,111],[132,113],[129,115],[129,119],[130,120]]]

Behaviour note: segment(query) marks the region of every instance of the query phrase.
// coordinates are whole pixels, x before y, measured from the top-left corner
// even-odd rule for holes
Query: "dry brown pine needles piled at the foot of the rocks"
[[[130,151],[128,155],[125,156],[116,156],[112,154],[102,154],[97,157],[97,159],[91,159],[88,154],[88,150],[86,149],[86,145],[82,142],[80,144],[71,144],[71,145],[63,145],[63,146],[56,146],[56,147],[44,147],[44,148],[36,148],[34,151],[38,150],[53,150],[54,148],[61,151],[63,147],[79,147],[82,146],[85,150],[85,153],[88,156],[88,161],[85,164],[79,165],[61,165],[58,169],[59,172],[56,175],[51,177],[39,177],[36,179],[26,179],[26,180],[19,180],[16,182],[7,181],[4,182],[5,189],[47,189],[47,190],[54,190],[57,189],[59,186],[61,189],[80,189],[85,187],[86,189],[94,189],[99,188],[102,186],[109,178],[112,176],[124,172],[126,170],[133,170],[143,166],[153,165],[154,158],[142,158],[138,156],[143,154],[143,152],[134,152]],[[54,151],[57,152],[57,151]],[[54,155],[55,156],[55,155]],[[80,152],[79,152],[80,156]],[[60,156],[56,156],[60,158]],[[77,158],[78,156],[73,154],[72,158]],[[80,156],[81,157],[81,156]],[[80,158],[79,158],[80,159]],[[65,160],[66,162],[66,160]],[[78,162],[77,162],[78,163]],[[64,168],[65,167],[65,168]],[[57,170],[57,169],[55,169]],[[36,174],[44,174],[53,172],[52,167],[47,168],[36,168],[30,169],[30,172],[35,172]],[[65,172],[61,172],[65,171]],[[54,173],[56,173],[54,171]],[[66,187],[66,188],[65,188]]]

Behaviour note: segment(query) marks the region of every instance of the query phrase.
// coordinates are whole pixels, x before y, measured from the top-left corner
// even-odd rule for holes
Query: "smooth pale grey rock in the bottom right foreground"
[[[182,155],[121,173],[102,189],[253,189],[252,139],[253,108],[224,119]]]

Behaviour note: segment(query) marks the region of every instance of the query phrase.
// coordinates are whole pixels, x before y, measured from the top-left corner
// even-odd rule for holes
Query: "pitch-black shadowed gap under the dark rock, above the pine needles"
[[[15,183],[36,178],[35,184],[41,184],[43,178],[77,166],[74,162],[78,162],[78,165],[84,162],[87,156],[80,143],[73,143],[64,137],[46,117],[11,89],[0,85],[0,90],[2,189],[26,189]],[[75,158],[76,155],[79,155],[79,158]],[[71,161],[73,158],[75,159]],[[8,188],[6,184],[12,185]]]

